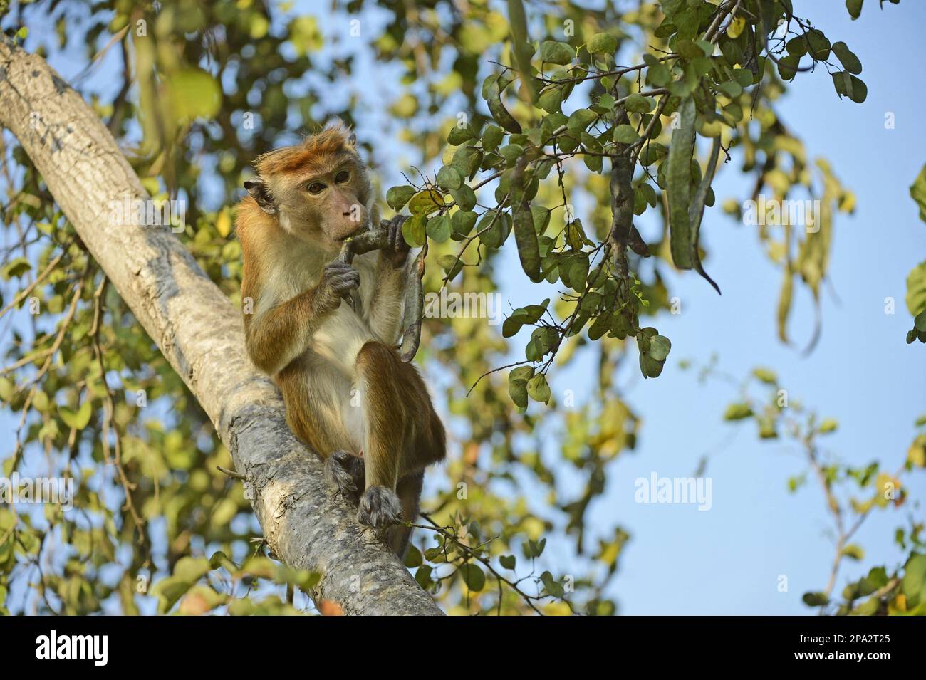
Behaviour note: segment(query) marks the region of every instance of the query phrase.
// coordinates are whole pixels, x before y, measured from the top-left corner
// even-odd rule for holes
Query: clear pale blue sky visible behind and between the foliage
[[[722,370],[737,377],[756,365],[770,366],[792,398],[839,420],[838,431],[826,444],[846,463],[880,459],[895,469],[913,438],[914,420],[926,413],[926,348],[904,343],[911,319],[903,302],[907,272],[926,259],[926,224],[908,193],[926,163],[924,102],[917,87],[926,6],[904,0],[879,10],[870,0],[862,18],[853,22],[843,0],[795,5],[832,41],[848,43],[862,60],[861,78],[869,87],[863,105],[840,101],[832,80],[820,69],[799,74],[780,104],[808,155],[830,160],[845,187],[857,194],[855,215],[836,217],[822,336],[808,357],[777,340],[779,270],[762,252],[755,228],[734,222],[719,208],[708,210],[702,228],[710,253],[706,266],[723,295],[693,274],[673,276],[672,291],[682,297],[682,314],[660,315],[654,324],[672,340],[669,365],[657,380],[644,381],[632,349],[630,370],[619,376],[628,401],[643,418],[639,444],[610,468],[607,493],[591,513],[593,525],[620,524],[632,533],[612,592],[622,613],[809,613],[801,595],[821,589],[829,575],[831,521],[820,489],[811,483],[796,494],[787,490],[788,477],[806,469],[803,459],[784,442],[759,442],[750,425],[724,424],[721,414],[735,397],[733,389],[720,381],[699,384],[694,372],[678,368],[679,359],[704,363],[716,352]],[[66,79],[84,66],[74,56],[78,58],[51,59]],[[115,87],[107,85],[119,66],[111,57],[91,76],[103,90]],[[364,68],[376,67],[368,60]],[[358,118],[373,125],[382,116],[377,98],[385,80],[369,82]],[[894,130],[884,128],[886,112],[895,114]],[[392,151],[387,148],[381,156]],[[383,159],[377,160],[382,165]],[[744,197],[740,162],[734,155],[732,167],[720,173],[715,183],[719,204],[726,197]],[[398,169],[383,168],[384,186],[399,179]],[[503,268],[519,273],[516,267]],[[536,302],[537,293],[526,289],[521,278],[506,276],[502,283],[503,295],[515,306]],[[884,314],[887,297],[895,299],[895,315]],[[798,294],[790,329],[799,346],[811,333],[811,310],[807,294]],[[580,362],[554,373],[553,389],[581,387],[587,366]],[[2,431],[11,431],[14,424],[9,414],[0,414]],[[12,448],[7,439],[0,444],[4,451]],[[691,476],[707,451],[715,451],[707,467],[713,492],[709,512],[698,512],[694,505],[634,501],[637,477],[653,472]],[[926,475],[920,472],[907,480],[912,499],[923,498]],[[837,592],[849,576],[857,577],[875,563],[903,559],[893,533],[895,526],[906,525],[907,510],[870,517],[857,535],[867,556],[845,564]],[[918,514],[922,516],[921,508]],[[560,573],[569,572],[566,545],[547,556]],[[781,575],[788,578],[787,592],[779,591]]]

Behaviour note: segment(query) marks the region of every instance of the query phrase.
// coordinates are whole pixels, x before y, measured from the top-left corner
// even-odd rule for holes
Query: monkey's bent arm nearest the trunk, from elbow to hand
[[[303,291],[245,320],[244,334],[251,361],[274,376],[306,351],[325,316],[338,308],[341,295],[357,288],[360,275],[352,266],[333,262],[314,288]],[[259,309],[259,300],[257,307]]]

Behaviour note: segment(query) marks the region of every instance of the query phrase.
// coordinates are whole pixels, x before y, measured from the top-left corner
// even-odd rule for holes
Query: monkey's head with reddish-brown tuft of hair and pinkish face
[[[357,137],[337,121],[304,142],[261,155],[244,188],[296,238],[337,253],[369,229],[370,186]]]

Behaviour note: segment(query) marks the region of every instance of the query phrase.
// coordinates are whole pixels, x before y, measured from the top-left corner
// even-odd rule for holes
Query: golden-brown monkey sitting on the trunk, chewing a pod
[[[247,352],[282,391],[294,434],[324,459],[328,485],[402,558],[411,530],[397,523],[417,519],[424,469],[446,449],[424,380],[397,352],[405,217],[388,223],[387,247],[338,260],[345,240],[382,229],[357,136],[340,121],[254,166],[235,216]]]

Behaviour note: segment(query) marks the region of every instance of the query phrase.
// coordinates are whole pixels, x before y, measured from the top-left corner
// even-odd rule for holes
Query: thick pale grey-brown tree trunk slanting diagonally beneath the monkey
[[[232,451],[269,547],[319,572],[313,593],[353,614],[440,614],[355,510],[327,491],[320,459],[286,426],[282,400],[244,351],[241,315],[169,229],[112,219],[148,196],[106,127],[48,66],[0,35],[0,126],[42,172],[122,299]]]

